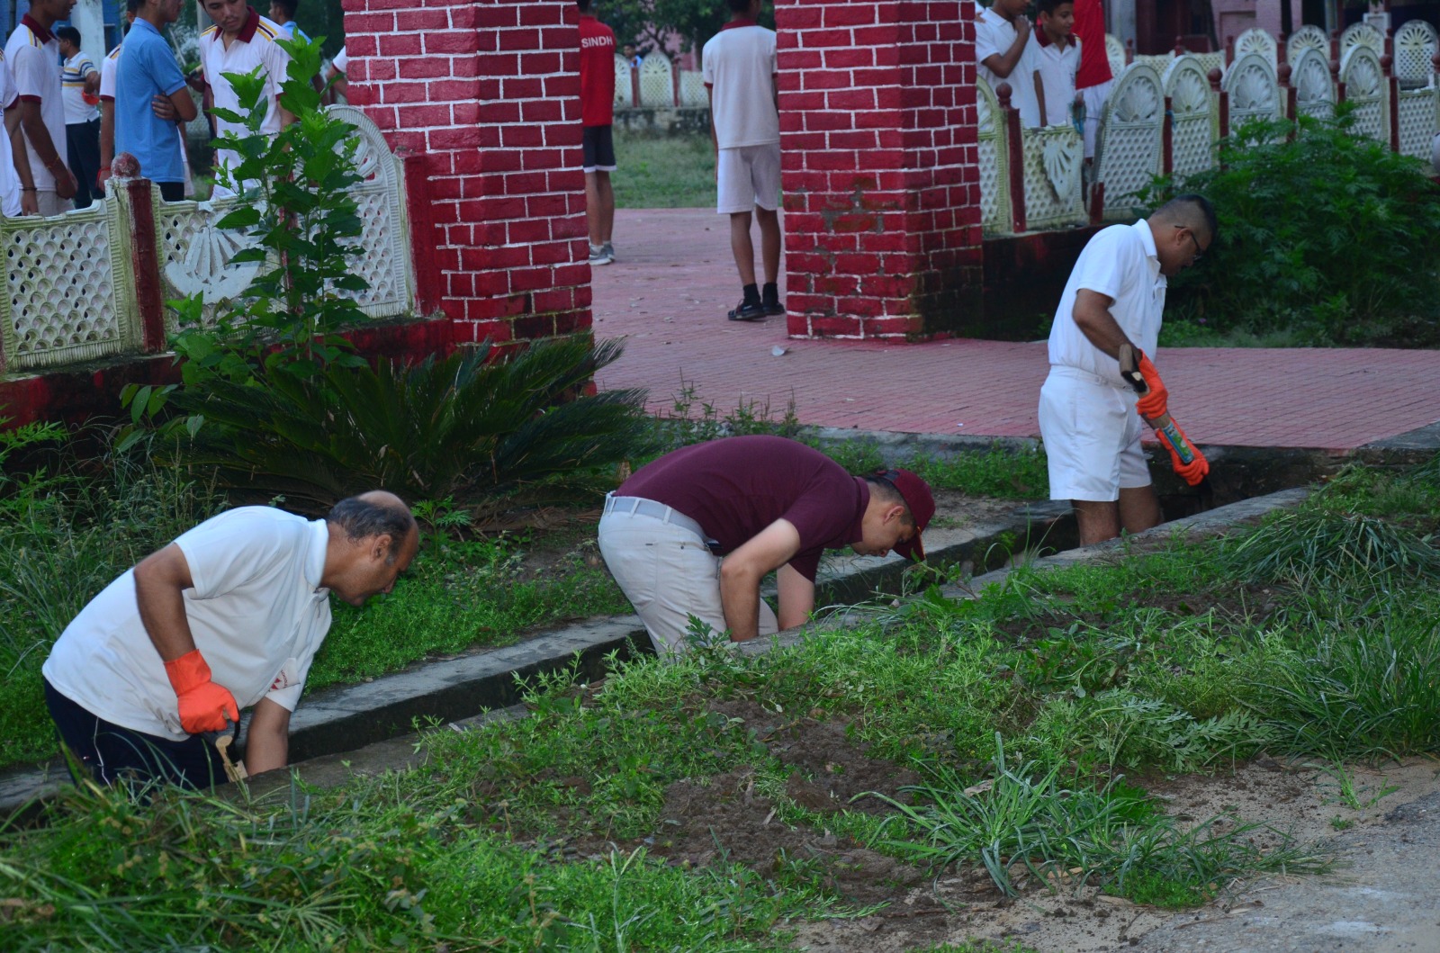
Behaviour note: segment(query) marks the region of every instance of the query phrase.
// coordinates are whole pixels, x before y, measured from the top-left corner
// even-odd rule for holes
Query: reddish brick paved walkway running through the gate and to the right
[[[668,409],[684,380],[721,415],[793,397],[804,423],[863,430],[1040,432],[1044,343],[808,341],[786,338],[783,318],[727,321],[739,279],[708,210],[621,210],[615,246],[619,261],[595,269],[595,333],[626,348],[602,387],[648,387]],[[1156,364],[1200,443],[1348,451],[1440,420],[1440,351],[1169,348]]]

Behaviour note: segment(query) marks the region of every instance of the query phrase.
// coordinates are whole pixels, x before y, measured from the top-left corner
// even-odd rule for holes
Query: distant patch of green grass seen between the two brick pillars
[[[713,209],[716,157],[708,135],[615,130],[611,184],[618,209]]]

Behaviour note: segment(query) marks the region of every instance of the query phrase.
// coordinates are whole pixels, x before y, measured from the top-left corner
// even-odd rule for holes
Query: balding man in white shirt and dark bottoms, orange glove
[[[390,592],[418,547],[415,517],[380,489],[324,520],[240,507],[183,533],[95,596],[40,669],[76,769],[209,787],[225,774],[204,733],[252,705],[248,770],[282,767],[330,593]]]

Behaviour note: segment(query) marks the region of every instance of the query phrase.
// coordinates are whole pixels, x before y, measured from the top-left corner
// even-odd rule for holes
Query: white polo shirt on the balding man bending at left
[[[271,507],[222,512],[176,540],[194,582],[183,593],[194,645],[240,708],[261,698],[288,711],[300,703],[330,631],[330,590],[320,587],[328,544],[324,520]],[[75,616],[42,672],[105,721],[187,737],[164,662],[140,620],[132,569]]]

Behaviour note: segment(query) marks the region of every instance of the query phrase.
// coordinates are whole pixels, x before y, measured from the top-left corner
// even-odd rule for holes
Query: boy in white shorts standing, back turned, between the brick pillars
[[[716,212],[730,216],[730,250],[740,271],[732,321],[785,314],[780,274],[780,114],[775,83],[775,30],[759,26],[760,0],[727,0],[730,22],[706,43],[706,94],[716,145]],[[760,223],[765,288],[755,281],[750,209]]]

